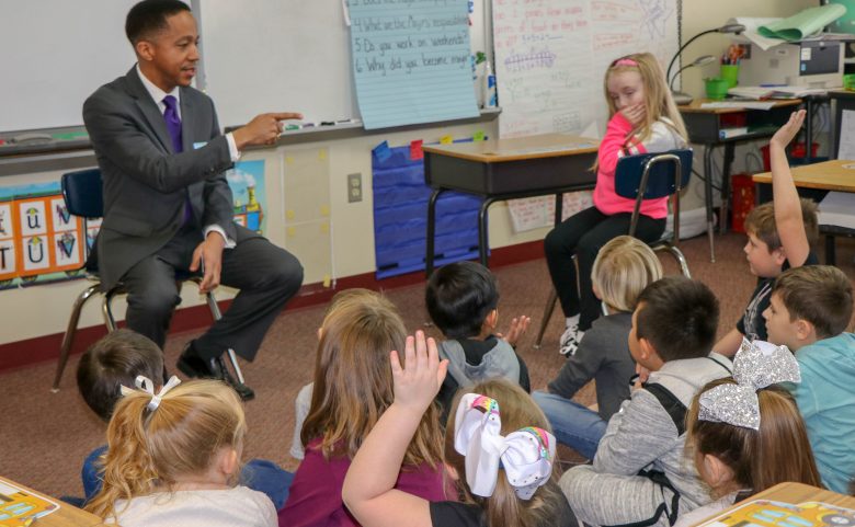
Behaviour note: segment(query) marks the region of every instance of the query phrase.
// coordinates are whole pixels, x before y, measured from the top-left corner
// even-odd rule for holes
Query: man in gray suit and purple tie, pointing
[[[252,360],[264,334],[303,282],[294,255],[233,222],[224,171],[252,145],[272,145],[281,121],[254,117],[221,135],[214,103],[190,84],[198,61],[198,33],[180,0],[144,0],[130,9],[125,32],[137,65],[95,91],[83,119],[104,182],[104,220],[98,238],[103,288],[128,291],[126,321],[161,347],[181,301],[176,273],[202,273],[203,293],[220,283],[240,289],[223,319],[181,354],[191,377],[230,381],[221,354]]]

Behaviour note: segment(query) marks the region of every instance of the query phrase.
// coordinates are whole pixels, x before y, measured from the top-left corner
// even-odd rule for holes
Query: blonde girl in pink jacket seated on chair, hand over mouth
[[[604,91],[609,121],[597,152],[594,206],[552,229],[544,240],[552,285],[567,317],[560,353],[572,354],[591,323],[600,316],[600,302],[591,287],[591,268],[601,247],[629,232],[635,199],[615,192],[615,170],[624,156],[685,148],[687,134],[671,98],[665,75],[649,53],[627,55],[606,69]],[[665,230],[668,197],[641,204],[636,237],[657,240]],[[577,270],[579,265],[579,289]]]

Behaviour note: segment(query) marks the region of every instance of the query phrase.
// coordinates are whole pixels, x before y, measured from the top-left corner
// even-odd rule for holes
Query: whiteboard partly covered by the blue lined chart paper
[[[360,118],[351,31],[342,0],[194,0],[202,34],[198,84],[221,126],[272,111],[307,122]],[[483,0],[471,2],[474,50],[485,50]]]

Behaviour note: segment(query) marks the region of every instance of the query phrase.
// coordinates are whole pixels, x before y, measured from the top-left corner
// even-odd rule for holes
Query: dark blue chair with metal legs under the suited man
[[[99,169],[81,170],[78,172],[69,172],[62,174],[61,179],[62,198],[66,202],[68,211],[75,216],[83,218],[86,232],[86,221],[88,219],[100,218],[104,214],[104,201],[102,196],[102,182],[101,171]],[[94,248],[93,248],[94,249]],[[75,300],[75,305],[71,308],[71,317],[68,320],[68,326],[66,333],[62,336],[62,346],[59,351],[59,363],[56,366],[56,377],[54,378],[54,387],[50,391],[59,391],[59,381],[62,378],[62,371],[66,369],[66,363],[68,363],[68,353],[71,351],[71,344],[75,341],[75,334],[77,333],[77,325],[80,321],[80,312],[83,310],[86,302],[92,298],[93,295],[101,291],[101,280],[98,276],[98,257],[95,251],[87,259],[86,263],[81,267],[87,274],[87,279],[90,282],[89,286],[78,295]],[[190,274],[181,273],[175,276],[175,280],[179,287],[184,282],[194,282],[200,284],[202,277]],[[104,293],[103,302],[101,305],[101,312],[104,317],[104,324],[107,331],[116,330],[116,320],[113,317],[112,302],[117,295],[126,293],[124,286],[119,283],[112,289]],[[213,293],[206,295],[208,308],[214,320],[219,320],[221,313],[217,299]],[[243,383],[243,373],[240,370],[240,365],[235,356],[232,350],[228,350],[229,362],[232,368],[235,368],[235,376],[240,383]]]

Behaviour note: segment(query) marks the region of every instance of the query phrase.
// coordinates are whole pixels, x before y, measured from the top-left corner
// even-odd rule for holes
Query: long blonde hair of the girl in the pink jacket
[[[674,99],[671,96],[671,90],[668,88],[668,80],[664,71],[662,71],[662,66],[649,53],[627,55],[613,60],[608,66],[603,80],[603,91],[606,104],[608,104],[608,118],[612,118],[617,113],[617,106],[615,106],[615,102],[608,95],[608,79],[615,73],[624,73],[626,71],[638,71],[645,85],[645,122],[638,129],[632,130],[632,134],[638,135],[643,141],[650,137],[653,123],[661,121],[662,117],[666,117],[671,121],[669,126],[685,141],[688,141],[686,125],[683,123],[683,117],[680,115]]]

